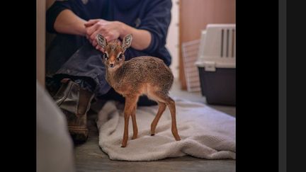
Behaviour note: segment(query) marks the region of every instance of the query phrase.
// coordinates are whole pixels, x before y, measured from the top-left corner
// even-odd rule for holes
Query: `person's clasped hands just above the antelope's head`
[[[102,48],[96,42],[96,35],[100,33],[107,41],[116,40],[120,37],[122,23],[118,21],[105,21],[103,19],[89,20],[84,24],[86,26],[86,38],[97,50]]]

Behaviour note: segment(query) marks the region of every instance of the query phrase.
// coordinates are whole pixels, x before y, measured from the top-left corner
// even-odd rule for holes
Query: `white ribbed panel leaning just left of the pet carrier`
[[[200,91],[200,78],[195,62],[198,59],[200,40],[182,43],[183,69],[186,78],[187,91]]]

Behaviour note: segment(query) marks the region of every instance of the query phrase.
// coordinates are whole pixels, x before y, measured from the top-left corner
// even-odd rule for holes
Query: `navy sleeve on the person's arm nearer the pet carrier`
[[[171,0],[150,1],[147,13],[139,29],[148,30],[152,35],[149,47],[144,52],[153,53],[166,45],[166,36],[171,21]]]

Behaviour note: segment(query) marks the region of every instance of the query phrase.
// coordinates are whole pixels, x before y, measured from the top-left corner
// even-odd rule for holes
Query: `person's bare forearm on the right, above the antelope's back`
[[[120,38],[124,38],[125,35],[132,34],[132,45],[135,50],[145,50],[151,43],[151,33],[147,30],[141,30],[130,27],[125,23],[120,23],[121,31]]]

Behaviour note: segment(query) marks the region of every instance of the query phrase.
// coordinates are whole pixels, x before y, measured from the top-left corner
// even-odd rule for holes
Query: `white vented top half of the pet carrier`
[[[201,33],[198,67],[215,71],[216,67],[236,68],[236,25],[208,24]]]

